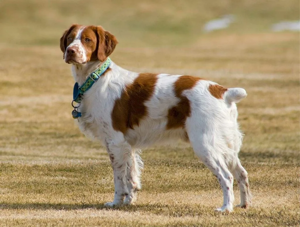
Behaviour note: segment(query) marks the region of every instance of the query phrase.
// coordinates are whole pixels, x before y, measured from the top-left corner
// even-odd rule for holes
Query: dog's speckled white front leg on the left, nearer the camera
[[[128,164],[131,164],[130,152],[131,146],[125,142],[107,143],[107,152],[113,166],[115,194],[111,203],[105,203],[105,206],[112,207],[123,203],[124,197],[128,196],[126,184]]]

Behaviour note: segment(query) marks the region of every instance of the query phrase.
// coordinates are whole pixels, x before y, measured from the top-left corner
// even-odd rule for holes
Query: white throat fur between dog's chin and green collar
[[[72,64],[72,74],[78,85],[81,86],[88,76],[97,70],[101,64],[102,62],[100,61],[87,62],[83,65]]]

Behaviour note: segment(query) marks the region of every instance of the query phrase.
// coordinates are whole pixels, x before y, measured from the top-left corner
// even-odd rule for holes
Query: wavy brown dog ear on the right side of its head
[[[118,40],[116,39],[116,36],[104,30],[101,26],[96,27],[95,33],[97,35],[97,57],[103,62],[111,53],[113,53],[113,50],[118,44]]]

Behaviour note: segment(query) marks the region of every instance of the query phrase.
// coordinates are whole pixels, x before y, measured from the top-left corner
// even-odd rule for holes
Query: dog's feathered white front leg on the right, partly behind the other
[[[137,191],[141,190],[140,175],[144,164],[140,157],[140,150],[132,149],[131,165],[128,165],[127,188],[129,194],[125,197],[124,204],[131,204],[137,199]]]

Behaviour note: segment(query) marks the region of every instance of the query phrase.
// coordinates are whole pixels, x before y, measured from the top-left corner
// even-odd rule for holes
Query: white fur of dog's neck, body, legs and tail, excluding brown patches
[[[79,86],[100,65],[101,62],[73,65],[73,76]],[[138,73],[125,70],[114,62],[110,69],[84,94],[79,107],[82,117],[78,118],[80,130],[86,136],[103,142],[111,158],[115,198],[113,202],[106,203],[107,206],[123,202],[131,204],[136,199],[136,193],[141,188],[140,174],[143,169],[139,148],[183,139],[186,133],[193,150],[216,175],[222,187],[223,206],[217,211],[233,209],[233,177],[240,188],[240,206],[251,204],[247,172],[238,159],[243,135],[238,127],[235,102],[246,96],[244,89],[229,89],[223,99],[216,99],[208,90],[210,84],[216,83],[199,80],[192,89],[183,92],[191,107],[185,129],[167,130],[168,110],[179,102],[173,85],[180,75],[160,74],[152,97],[145,102],[148,115],[140,121],[139,126],[135,125],[124,135],[113,129],[111,113],[116,99],[120,98],[126,85],[137,78]]]

